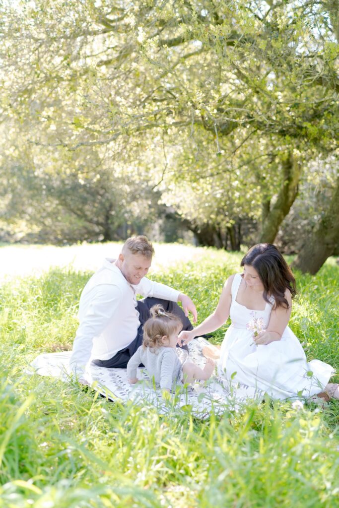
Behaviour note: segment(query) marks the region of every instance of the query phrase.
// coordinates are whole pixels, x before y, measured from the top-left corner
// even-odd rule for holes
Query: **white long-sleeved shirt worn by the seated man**
[[[140,326],[136,295],[176,302],[180,294],[165,284],[143,277],[130,284],[115,260],[106,259],[88,280],[79,303],[79,328],[73,343],[70,366],[82,375],[91,359],[109,360],[127,347]]]

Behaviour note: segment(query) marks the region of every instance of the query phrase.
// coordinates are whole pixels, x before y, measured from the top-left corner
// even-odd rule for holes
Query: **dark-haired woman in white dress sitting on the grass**
[[[307,363],[299,340],[287,326],[295,279],[279,250],[270,243],[255,245],[241,266],[241,275],[227,279],[214,312],[195,329],[181,332],[179,343],[217,330],[230,315],[232,324],[218,364],[221,376],[276,399],[320,392],[339,399],[339,385],[328,383],[333,368],[319,360]]]

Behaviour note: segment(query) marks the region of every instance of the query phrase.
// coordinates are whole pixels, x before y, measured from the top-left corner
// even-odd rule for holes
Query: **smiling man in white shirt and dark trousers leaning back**
[[[106,259],[85,285],[70,359],[73,372],[82,382],[89,360],[102,367],[126,367],[142,343],[142,325],[156,303],[178,315],[183,330],[193,329],[188,312],[196,321],[197,311],[191,298],[145,277],[153,254],[153,246],[145,236],[128,238],[118,259]],[[146,298],[137,301],[137,294]]]

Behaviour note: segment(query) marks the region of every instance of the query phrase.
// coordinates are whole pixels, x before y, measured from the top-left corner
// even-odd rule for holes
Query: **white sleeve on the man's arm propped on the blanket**
[[[93,348],[94,337],[99,336],[116,312],[121,290],[112,284],[101,284],[93,289],[85,314],[77,330],[70,367],[81,376],[85,372]]]

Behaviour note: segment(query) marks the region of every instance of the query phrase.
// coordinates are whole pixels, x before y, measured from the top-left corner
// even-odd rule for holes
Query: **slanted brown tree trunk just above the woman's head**
[[[300,164],[295,160],[292,152],[289,152],[283,160],[283,183],[276,202],[272,207],[269,207],[268,200],[263,203],[263,225],[260,242],[274,242],[279,226],[298,195],[300,174]]]

